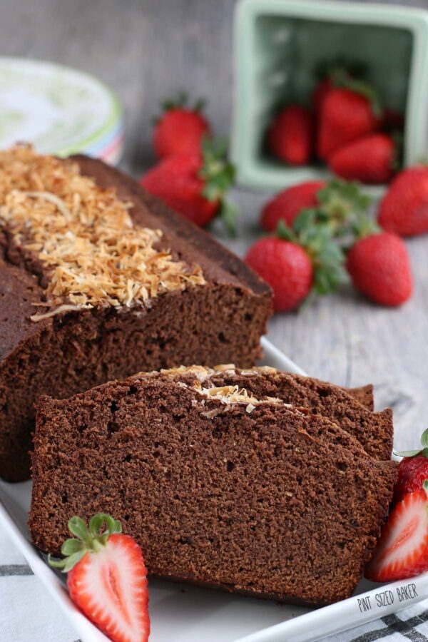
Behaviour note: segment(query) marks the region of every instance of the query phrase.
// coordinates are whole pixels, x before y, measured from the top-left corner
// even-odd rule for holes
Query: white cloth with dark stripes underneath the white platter
[[[56,603],[0,533],[0,641],[79,642]],[[322,642],[428,642],[428,601]],[[171,641],[172,642],[172,641]]]

